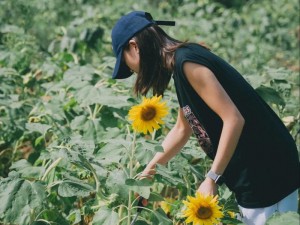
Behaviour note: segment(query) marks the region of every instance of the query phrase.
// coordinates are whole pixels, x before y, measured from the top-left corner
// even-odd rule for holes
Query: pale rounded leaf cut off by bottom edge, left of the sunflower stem
[[[119,217],[113,210],[103,207],[100,208],[93,219],[93,225],[116,225],[119,222]]]

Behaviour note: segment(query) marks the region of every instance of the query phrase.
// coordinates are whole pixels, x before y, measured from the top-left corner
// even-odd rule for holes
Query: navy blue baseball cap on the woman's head
[[[124,79],[133,74],[126,63],[122,61],[123,49],[130,38],[152,24],[174,26],[175,22],[155,21],[150,13],[143,11],[130,12],[117,21],[111,32],[113,51],[116,56],[113,79]]]

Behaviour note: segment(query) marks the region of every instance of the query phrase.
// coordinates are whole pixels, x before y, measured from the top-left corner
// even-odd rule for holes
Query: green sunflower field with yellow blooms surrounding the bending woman
[[[139,179],[178,102],[172,81],[163,98],[142,98],[134,76],[111,79],[111,29],[132,10],[175,20],[170,36],[235,66],[300,146],[298,0],[1,0],[0,225],[242,224],[225,186],[217,198],[196,195],[211,161],[194,137]]]

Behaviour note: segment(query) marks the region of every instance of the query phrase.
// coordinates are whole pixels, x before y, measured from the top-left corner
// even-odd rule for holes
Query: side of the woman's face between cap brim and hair
[[[140,55],[137,43],[134,40],[129,41],[129,46],[123,52],[126,65],[135,73],[140,71]]]

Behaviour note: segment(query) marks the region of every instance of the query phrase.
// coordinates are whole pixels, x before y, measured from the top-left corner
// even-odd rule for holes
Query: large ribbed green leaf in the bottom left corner
[[[28,225],[37,215],[46,198],[41,182],[30,182],[11,173],[0,182],[0,218],[4,223]]]

